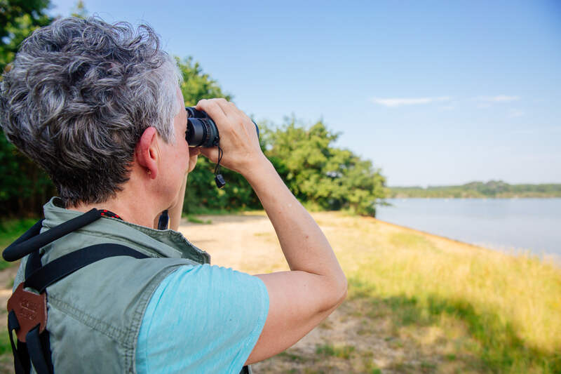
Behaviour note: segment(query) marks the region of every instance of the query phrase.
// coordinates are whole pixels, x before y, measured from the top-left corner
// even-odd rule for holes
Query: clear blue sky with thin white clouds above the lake
[[[323,120],[389,186],[561,183],[560,1],[84,4],[154,27],[256,121]]]

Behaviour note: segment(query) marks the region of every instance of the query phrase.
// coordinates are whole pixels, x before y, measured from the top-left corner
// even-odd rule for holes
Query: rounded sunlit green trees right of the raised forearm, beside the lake
[[[320,209],[375,215],[376,203],[385,197],[385,178],[371,161],[334,147],[339,134],[322,121],[306,128],[287,119],[264,133],[266,156],[300,201]]]

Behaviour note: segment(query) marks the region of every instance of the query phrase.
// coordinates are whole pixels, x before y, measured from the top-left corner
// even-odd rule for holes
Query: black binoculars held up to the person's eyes
[[[187,133],[185,139],[189,147],[215,147],[219,145],[218,128],[215,121],[212,121],[210,116],[202,110],[197,110],[194,107],[185,107],[187,110]],[[252,121],[259,137],[259,127],[257,123]]]

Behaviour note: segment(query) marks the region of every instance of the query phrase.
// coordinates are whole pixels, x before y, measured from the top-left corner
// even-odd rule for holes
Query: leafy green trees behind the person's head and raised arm
[[[45,13],[48,4],[48,1],[8,1],[0,30],[2,69],[13,59],[25,36],[52,22]],[[85,15],[83,3],[79,3],[77,12],[74,15]],[[177,64],[184,79],[180,88],[185,105],[193,106],[204,98],[232,100],[232,95],[224,93],[192,58],[177,58]],[[375,214],[376,204],[386,193],[384,177],[371,161],[334,147],[339,134],[329,131],[323,121],[304,126],[292,117],[280,126],[259,123],[259,130],[265,155],[305,206]],[[195,170],[189,173],[185,213],[262,208],[248,182],[238,173],[222,168],[227,186],[217,189],[214,168],[214,163],[199,157]],[[3,217],[40,215],[43,203],[56,194],[48,175],[15,149],[1,130],[0,175],[0,214]]]

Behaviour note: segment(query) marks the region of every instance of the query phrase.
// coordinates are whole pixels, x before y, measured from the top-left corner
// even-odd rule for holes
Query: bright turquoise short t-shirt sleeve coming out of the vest
[[[238,374],[268,312],[269,294],[257,276],[210,265],[180,267],[147,306],[137,373]]]

